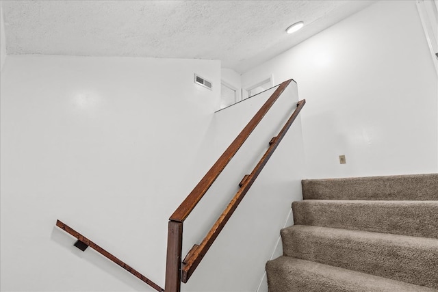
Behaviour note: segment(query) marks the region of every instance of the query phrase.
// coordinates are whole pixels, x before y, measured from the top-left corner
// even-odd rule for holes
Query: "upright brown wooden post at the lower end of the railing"
[[[181,253],[183,248],[183,223],[169,221],[167,235],[166,292],[179,292],[181,289]]]

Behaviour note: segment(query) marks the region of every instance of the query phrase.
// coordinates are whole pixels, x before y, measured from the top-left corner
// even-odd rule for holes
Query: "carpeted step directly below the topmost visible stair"
[[[295,224],[438,238],[436,202],[293,202]]]

